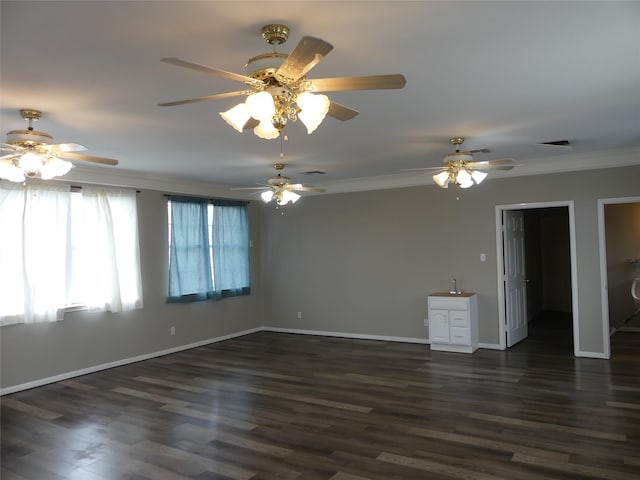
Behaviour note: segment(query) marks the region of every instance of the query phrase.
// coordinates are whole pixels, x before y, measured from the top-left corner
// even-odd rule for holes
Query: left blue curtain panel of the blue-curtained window
[[[207,205],[202,198],[171,197],[168,302],[195,302],[214,296]]]

